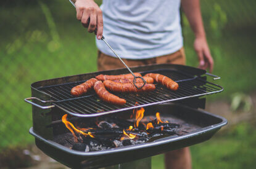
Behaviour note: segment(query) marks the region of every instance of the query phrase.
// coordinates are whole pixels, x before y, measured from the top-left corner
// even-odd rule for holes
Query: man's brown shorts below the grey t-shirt
[[[109,55],[105,55],[101,51],[98,51],[97,56],[97,68],[98,71],[104,71],[109,69],[117,69],[117,68],[125,68],[123,63],[115,57],[110,57]],[[186,64],[186,56],[184,53],[183,47],[175,53],[171,53],[169,55],[163,55],[155,58],[142,59],[142,60],[131,60],[131,59],[123,59],[126,65],[128,66],[141,66],[141,65],[150,65],[150,64],[161,64],[161,63],[172,63],[178,65]]]

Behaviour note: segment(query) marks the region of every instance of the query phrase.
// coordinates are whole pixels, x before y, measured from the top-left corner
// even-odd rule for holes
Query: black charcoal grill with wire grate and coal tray
[[[36,146],[68,167],[99,168],[144,159],[201,143],[209,140],[223,125],[226,125],[225,118],[197,109],[204,109],[205,95],[223,91],[220,85],[206,81],[204,70],[170,64],[138,66],[131,70],[142,75],[146,73],[164,74],[178,82],[180,87],[176,91],[171,91],[162,85],[157,85],[156,90],[149,93],[115,93],[127,100],[125,105],[115,106],[99,100],[93,91],[74,97],[70,95],[70,89],[99,74],[125,74],[128,73],[127,69],[35,82],[31,84],[32,97],[25,101],[33,105],[33,127],[30,128],[30,133],[35,136]],[[164,116],[181,119],[187,124],[197,125],[197,128],[185,135],[168,136],[149,143],[95,152],[75,151],[53,141],[54,136],[68,132],[60,120],[64,114],[70,114],[72,117],[70,120],[82,119],[86,122],[86,120],[95,120],[99,116],[125,116],[134,108],[140,107],[146,109],[147,115],[160,111]]]

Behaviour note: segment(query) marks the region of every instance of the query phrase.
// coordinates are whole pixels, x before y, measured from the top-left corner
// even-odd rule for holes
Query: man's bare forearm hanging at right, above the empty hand
[[[200,10],[200,0],[181,0],[181,6],[188,18],[195,36],[205,38],[204,24]]]

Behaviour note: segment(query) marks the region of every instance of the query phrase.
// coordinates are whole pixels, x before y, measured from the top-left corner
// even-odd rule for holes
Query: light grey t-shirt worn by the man
[[[103,0],[103,35],[122,58],[146,59],[183,47],[180,0]],[[96,40],[101,52],[115,57]]]

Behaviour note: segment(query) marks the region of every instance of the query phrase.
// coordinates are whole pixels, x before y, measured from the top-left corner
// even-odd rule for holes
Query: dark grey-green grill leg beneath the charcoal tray
[[[151,157],[146,159],[135,160],[133,162],[120,163],[118,165],[112,165],[110,167],[105,167],[105,169],[151,169]]]

